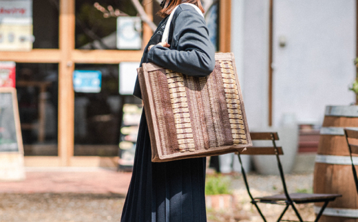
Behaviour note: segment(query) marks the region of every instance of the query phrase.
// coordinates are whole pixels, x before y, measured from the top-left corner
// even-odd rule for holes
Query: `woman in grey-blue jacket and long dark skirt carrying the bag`
[[[165,0],[158,14],[165,17],[151,37],[141,60],[190,76],[208,76],[215,66],[215,50],[209,41],[204,18],[191,5],[204,12],[200,0]],[[168,15],[177,6],[169,30],[169,43],[161,43]],[[141,98],[138,79],[134,96]],[[143,111],[136,145],[133,175],[122,222],[204,222],[206,159],[151,162],[147,120]]]

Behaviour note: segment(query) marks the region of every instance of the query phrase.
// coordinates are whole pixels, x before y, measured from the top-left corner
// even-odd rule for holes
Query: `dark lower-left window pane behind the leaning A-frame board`
[[[17,63],[16,89],[25,155],[56,156],[58,65]]]

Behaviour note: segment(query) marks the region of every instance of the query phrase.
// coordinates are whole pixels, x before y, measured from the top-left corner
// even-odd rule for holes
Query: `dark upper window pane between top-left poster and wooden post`
[[[59,0],[32,1],[34,49],[59,48]]]

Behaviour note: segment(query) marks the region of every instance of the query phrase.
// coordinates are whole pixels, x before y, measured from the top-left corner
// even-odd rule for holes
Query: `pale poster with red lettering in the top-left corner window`
[[[32,0],[0,0],[0,51],[32,49]]]

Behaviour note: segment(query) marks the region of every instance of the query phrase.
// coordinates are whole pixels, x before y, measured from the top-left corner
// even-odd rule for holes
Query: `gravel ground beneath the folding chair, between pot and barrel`
[[[285,177],[288,192],[312,192],[313,174],[285,175]],[[261,222],[262,218],[260,217],[260,214],[258,214],[256,208],[250,203],[251,199],[246,192],[242,176],[234,176],[233,178],[232,187],[234,189],[234,206],[231,210],[232,212],[229,212],[230,210],[227,210],[227,212],[214,212],[208,210],[208,222]],[[250,174],[247,179],[253,197],[275,195],[284,192],[280,176]],[[258,203],[258,206],[268,222],[277,221],[282,210],[284,210],[284,206],[273,204]],[[315,220],[313,204],[298,205],[297,210],[304,221]],[[283,219],[297,221],[297,217],[291,207],[286,212]]]

